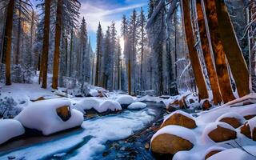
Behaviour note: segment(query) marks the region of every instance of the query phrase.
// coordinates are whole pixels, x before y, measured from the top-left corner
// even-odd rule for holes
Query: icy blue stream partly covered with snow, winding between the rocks
[[[157,114],[158,110],[148,107],[89,119],[82,123],[82,130],[75,130],[71,134],[57,134],[47,141],[14,150],[2,151],[0,147],[0,159],[93,159],[106,150],[106,142],[121,140],[145,129]]]

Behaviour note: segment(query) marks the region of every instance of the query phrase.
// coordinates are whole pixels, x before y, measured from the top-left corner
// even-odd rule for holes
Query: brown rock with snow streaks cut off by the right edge
[[[256,141],[256,118],[250,119],[240,128],[241,134]]]

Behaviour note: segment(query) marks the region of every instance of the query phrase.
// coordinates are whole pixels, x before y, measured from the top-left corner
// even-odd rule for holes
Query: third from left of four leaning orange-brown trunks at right
[[[206,17],[210,30],[210,40],[214,50],[215,67],[218,74],[218,84],[220,86],[223,101],[234,100],[234,94],[230,85],[230,76],[226,65],[226,55],[223,50],[220,33],[218,32],[218,19],[214,0],[202,0],[202,9],[206,10]]]

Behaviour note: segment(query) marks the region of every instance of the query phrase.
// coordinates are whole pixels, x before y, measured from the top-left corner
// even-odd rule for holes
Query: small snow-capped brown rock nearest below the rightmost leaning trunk
[[[239,126],[242,126],[242,124],[246,121],[246,119],[237,113],[229,112],[226,114],[222,114],[222,116],[219,117],[216,121],[226,122],[230,126],[233,126],[234,128],[238,128]]]

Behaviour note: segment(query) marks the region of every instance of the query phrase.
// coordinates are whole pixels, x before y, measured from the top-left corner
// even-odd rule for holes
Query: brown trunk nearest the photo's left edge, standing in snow
[[[14,19],[14,5],[15,0],[10,0],[7,6],[7,15],[6,15],[6,30],[5,30],[5,38],[4,38],[4,48],[3,55],[5,55],[6,60],[6,85],[10,86],[10,54],[11,54],[11,37],[13,30],[13,19]]]

